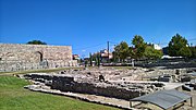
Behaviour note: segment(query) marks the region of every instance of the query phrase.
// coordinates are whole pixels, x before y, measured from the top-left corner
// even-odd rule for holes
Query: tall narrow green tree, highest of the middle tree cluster
[[[132,40],[132,44],[134,45],[135,49],[134,49],[134,58],[136,59],[140,59],[144,57],[144,52],[145,52],[145,49],[146,49],[146,42],[144,41],[143,37],[139,36],[139,35],[135,35],[133,40]]]

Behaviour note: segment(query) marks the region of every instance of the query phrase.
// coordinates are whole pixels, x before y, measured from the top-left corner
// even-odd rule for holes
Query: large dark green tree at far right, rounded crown
[[[192,52],[187,47],[187,40],[176,34],[172,37],[168,46],[168,53],[171,57],[191,57]]]

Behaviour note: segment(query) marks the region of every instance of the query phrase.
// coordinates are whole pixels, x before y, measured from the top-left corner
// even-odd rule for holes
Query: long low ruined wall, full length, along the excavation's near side
[[[125,100],[147,94],[146,89],[143,89],[143,85],[145,84],[121,85],[118,83],[94,81],[90,76],[83,77],[83,75],[32,73],[26,74],[25,77],[45,83],[51,86],[52,89],[59,89],[61,91],[91,94]]]

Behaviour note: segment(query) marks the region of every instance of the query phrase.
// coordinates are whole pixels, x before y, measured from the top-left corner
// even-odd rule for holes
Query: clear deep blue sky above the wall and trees
[[[179,33],[196,45],[196,0],[0,0],[0,42],[70,45],[87,57],[134,35],[167,46]]]

